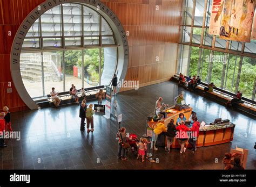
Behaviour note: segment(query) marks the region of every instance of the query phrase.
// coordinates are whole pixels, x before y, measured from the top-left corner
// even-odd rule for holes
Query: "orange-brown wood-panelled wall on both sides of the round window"
[[[0,0],[0,111],[28,110],[12,84],[10,51],[19,25],[45,0]],[[125,80],[139,86],[164,82],[176,73],[182,0],[103,0],[130,35]],[[157,6],[157,7],[156,7]],[[156,9],[159,10],[156,10]],[[10,33],[11,32],[11,33]],[[10,35],[8,35],[10,34]],[[158,61],[156,57],[158,56]],[[11,83],[12,93],[7,93]],[[126,89],[122,89],[124,91]]]

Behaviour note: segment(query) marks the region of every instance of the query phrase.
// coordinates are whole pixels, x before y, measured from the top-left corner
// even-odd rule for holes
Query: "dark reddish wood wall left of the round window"
[[[10,51],[19,25],[33,9],[44,1],[0,0],[0,111],[5,105],[11,112],[28,110],[12,82]],[[7,93],[8,88],[12,88],[11,93]]]

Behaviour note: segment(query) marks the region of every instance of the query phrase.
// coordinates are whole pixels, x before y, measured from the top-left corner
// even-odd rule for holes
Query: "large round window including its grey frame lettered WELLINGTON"
[[[120,71],[120,79],[127,70],[126,35],[110,9],[99,1],[57,2],[48,0],[33,10],[12,47],[12,78],[31,109],[37,106],[32,101],[45,98],[52,87],[63,92],[71,84],[78,89],[109,85],[114,73]]]

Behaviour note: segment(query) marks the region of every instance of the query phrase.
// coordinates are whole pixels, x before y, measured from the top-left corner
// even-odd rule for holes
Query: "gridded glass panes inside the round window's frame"
[[[35,99],[46,97],[52,87],[62,92],[71,84],[77,89],[108,85],[116,63],[109,24],[77,3],[55,6],[39,17],[26,34],[20,60],[23,83]]]

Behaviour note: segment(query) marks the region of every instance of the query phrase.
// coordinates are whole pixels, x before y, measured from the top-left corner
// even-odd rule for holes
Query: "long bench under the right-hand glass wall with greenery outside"
[[[179,80],[179,75],[176,74],[171,78],[172,81],[177,82]],[[204,88],[208,87],[206,83],[200,83],[198,87],[196,88],[196,92],[203,94]],[[222,105],[226,105],[227,102],[231,101],[233,97],[235,96],[234,93],[221,90],[219,88],[216,88],[213,90],[213,92],[206,92],[204,94],[205,97],[213,99],[215,102],[218,102]],[[253,100],[247,99],[242,97],[242,103],[238,104],[238,110],[244,111],[246,113],[252,114],[253,116],[256,116],[256,102]]]

